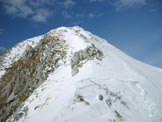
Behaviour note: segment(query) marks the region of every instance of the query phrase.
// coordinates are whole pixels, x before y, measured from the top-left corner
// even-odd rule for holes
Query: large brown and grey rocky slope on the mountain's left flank
[[[27,46],[0,79],[0,121],[5,122],[50,72],[64,64],[65,57],[65,41],[57,36],[47,34],[35,48]]]

